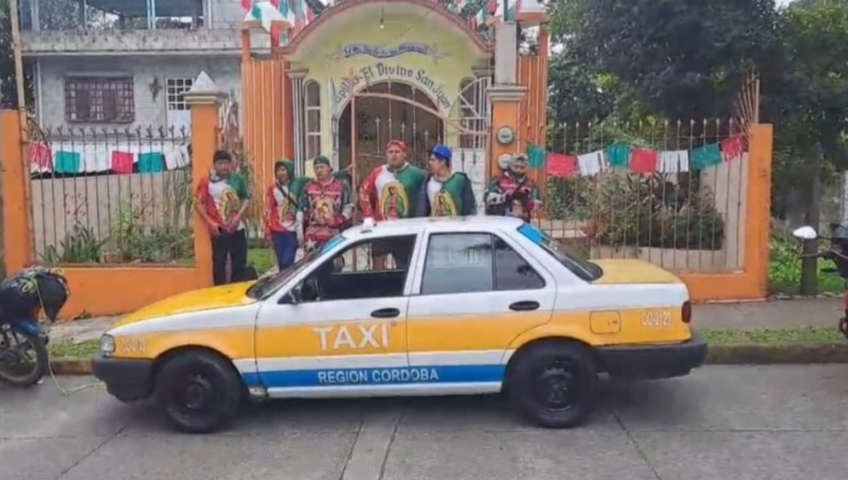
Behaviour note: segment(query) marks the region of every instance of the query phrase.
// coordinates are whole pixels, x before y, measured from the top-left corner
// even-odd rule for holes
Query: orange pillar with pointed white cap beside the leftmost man
[[[224,94],[206,72],[200,72],[191,90],[183,94],[192,110],[192,187],[209,175],[220,141],[220,106]],[[193,191],[192,191],[193,194]],[[194,258],[204,284],[212,285],[212,243],[209,230],[197,212],[194,219]]]

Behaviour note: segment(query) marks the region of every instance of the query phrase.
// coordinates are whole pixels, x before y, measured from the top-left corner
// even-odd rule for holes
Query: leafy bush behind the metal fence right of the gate
[[[583,223],[588,240],[600,245],[722,248],[724,219],[704,186],[686,191],[661,175],[616,173],[550,179],[547,191],[549,218]]]

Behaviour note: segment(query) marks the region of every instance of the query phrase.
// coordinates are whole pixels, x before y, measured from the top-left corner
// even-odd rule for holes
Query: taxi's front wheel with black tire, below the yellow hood
[[[225,428],[238,410],[243,391],[232,363],[204,350],[178,353],[156,377],[156,402],[170,424],[183,433]]]

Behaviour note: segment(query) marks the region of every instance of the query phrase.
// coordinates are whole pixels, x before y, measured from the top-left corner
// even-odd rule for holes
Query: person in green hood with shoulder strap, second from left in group
[[[266,194],[265,240],[274,249],[280,270],[294,264],[298,246],[303,243],[304,228],[298,221],[297,210],[306,180],[295,178],[291,160],[284,158],[274,163],[274,183]]]

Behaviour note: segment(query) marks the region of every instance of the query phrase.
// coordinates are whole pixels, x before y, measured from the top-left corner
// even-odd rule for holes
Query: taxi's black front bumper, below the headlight
[[[106,383],[106,391],[120,401],[144,400],[153,393],[153,360],[98,354],[92,360],[92,371]]]

